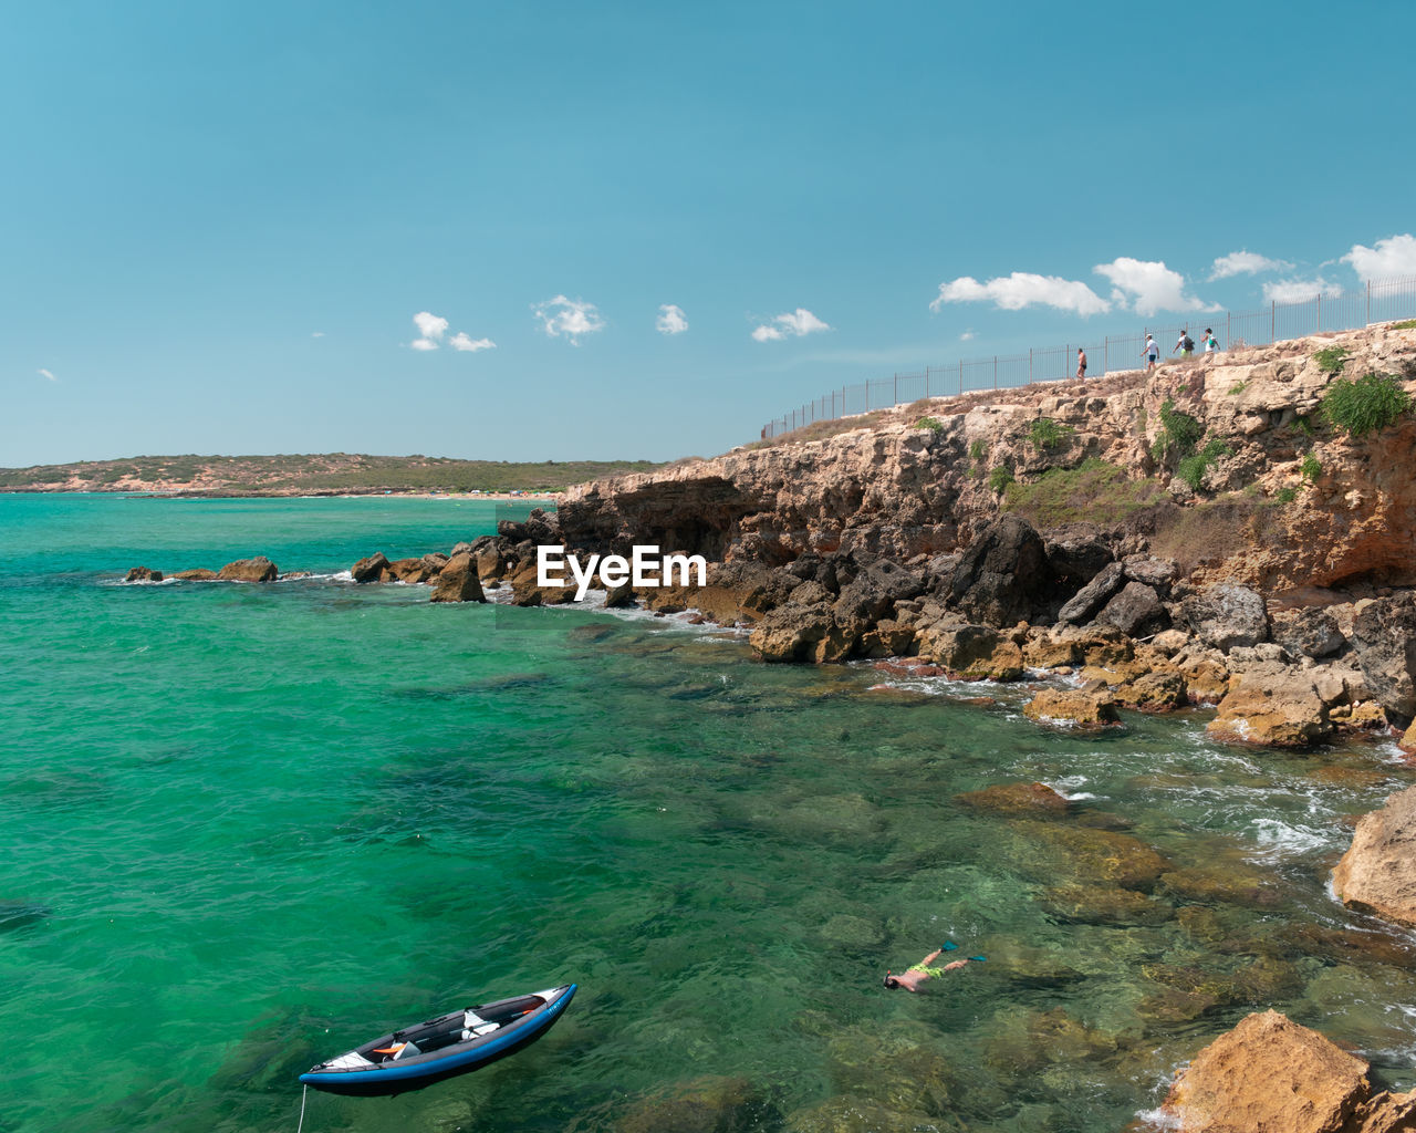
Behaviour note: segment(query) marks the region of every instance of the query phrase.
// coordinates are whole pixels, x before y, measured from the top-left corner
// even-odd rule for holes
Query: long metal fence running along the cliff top
[[[1362,290],[1315,295],[1293,303],[1270,303],[1262,310],[1216,312],[1172,327],[1146,327],[1165,357],[1181,334],[1202,348],[1205,327],[1212,327],[1219,348],[1267,346],[1306,334],[1354,330],[1416,316],[1416,276],[1374,279]],[[1078,347],[1086,351],[1087,377],[1138,370],[1146,333],[1106,336],[1089,341],[1029,350],[1027,354],[994,354],[991,358],[926,365],[909,374],[871,378],[830,389],[762,426],[763,439],[782,436],[816,421],[835,421],[871,409],[908,405],[920,398],[957,397],[976,389],[1008,389],[1037,381],[1062,381],[1076,375]]]

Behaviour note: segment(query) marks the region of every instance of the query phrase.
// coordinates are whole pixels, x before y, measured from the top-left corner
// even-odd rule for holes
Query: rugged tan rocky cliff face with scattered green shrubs
[[[571,542],[658,542],[783,564],[967,545],[1000,511],[1266,593],[1416,583],[1416,421],[1352,438],[1334,381],[1416,389],[1416,329],[1386,326],[1119,374],[933,399],[711,460],[572,487]]]

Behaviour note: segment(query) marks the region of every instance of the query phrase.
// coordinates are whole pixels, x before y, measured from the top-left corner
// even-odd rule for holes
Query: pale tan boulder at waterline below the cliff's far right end
[[[1317,670],[1266,661],[1231,680],[1219,714],[1205,725],[1215,739],[1259,748],[1308,748],[1332,734],[1330,701]],[[1330,695],[1337,690],[1330,690]]]

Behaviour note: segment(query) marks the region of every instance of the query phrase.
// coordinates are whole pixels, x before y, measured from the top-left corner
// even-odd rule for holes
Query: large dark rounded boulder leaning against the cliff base
[[[1042,537],[1027,520],[1004,516],[969,544],[946,598],[970,620],[1001,627],[1029,620],[1054,585]]]

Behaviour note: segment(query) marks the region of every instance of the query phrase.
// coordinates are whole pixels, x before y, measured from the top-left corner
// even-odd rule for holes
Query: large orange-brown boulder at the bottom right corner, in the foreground
[[[1195,1055],[1161,1113],[1178,1133],[1337,1133],[1369,1091],[1361,1058],[1263,1011]]]

